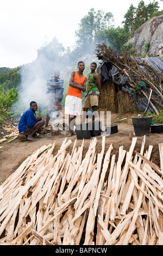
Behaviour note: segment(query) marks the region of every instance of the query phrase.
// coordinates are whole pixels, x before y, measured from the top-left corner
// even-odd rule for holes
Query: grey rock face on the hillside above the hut
[[[163,56],[163,15],[153,17],[146,21],[134,32],[133,38],[128,42],[134,42],[137,55],[145,53],[145,44],[150,42],[148,57]]]

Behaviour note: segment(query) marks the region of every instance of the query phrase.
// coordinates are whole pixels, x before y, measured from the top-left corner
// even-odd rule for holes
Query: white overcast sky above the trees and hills
[[[75,31],[91,8],[114,15],[122,26],[130,5],[141,0],[0,0],[0,68],[15,68],[33,62],[37,50],[54,36],[64,47],[75,44]],[[144,1],[145,4],[149,0]],[[163,3],[159,1],[160,10]]]

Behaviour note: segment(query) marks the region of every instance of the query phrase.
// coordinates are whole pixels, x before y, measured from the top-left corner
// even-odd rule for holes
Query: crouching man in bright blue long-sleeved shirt
[[[35,101],[30,102],[30,108],[24,112],[18,123],[18,138],[20,141],[35,141],[33,137],[35,133],[39,133],[41,127],[45,124],[42,117],[36,118],[35,112],[37,111],[37,103]]]

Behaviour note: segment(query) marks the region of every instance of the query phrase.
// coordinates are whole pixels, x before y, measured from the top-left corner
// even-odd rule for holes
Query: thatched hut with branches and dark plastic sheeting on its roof
[[[98,107],[116,113],[145,111],[149,92],[153,89],[147,112],[156,113],[157,109],[162,109],[163,81],[160,77],[163,58],[120,57],[113,51],[109,53],[109,57],[97,54],[98,59],[102,60],[97,69],[102,83]],[[146,83],[145,89],[137,89],[139,81]]]

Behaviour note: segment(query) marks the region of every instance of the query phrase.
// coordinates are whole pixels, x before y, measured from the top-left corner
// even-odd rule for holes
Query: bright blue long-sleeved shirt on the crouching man
[[[39,121],[39,119],[36,118],[35,112],[29,108],[26,112],[24,112],[18,123],[19,133],[26,131],[28,127],[33,127],[37,121]]]

